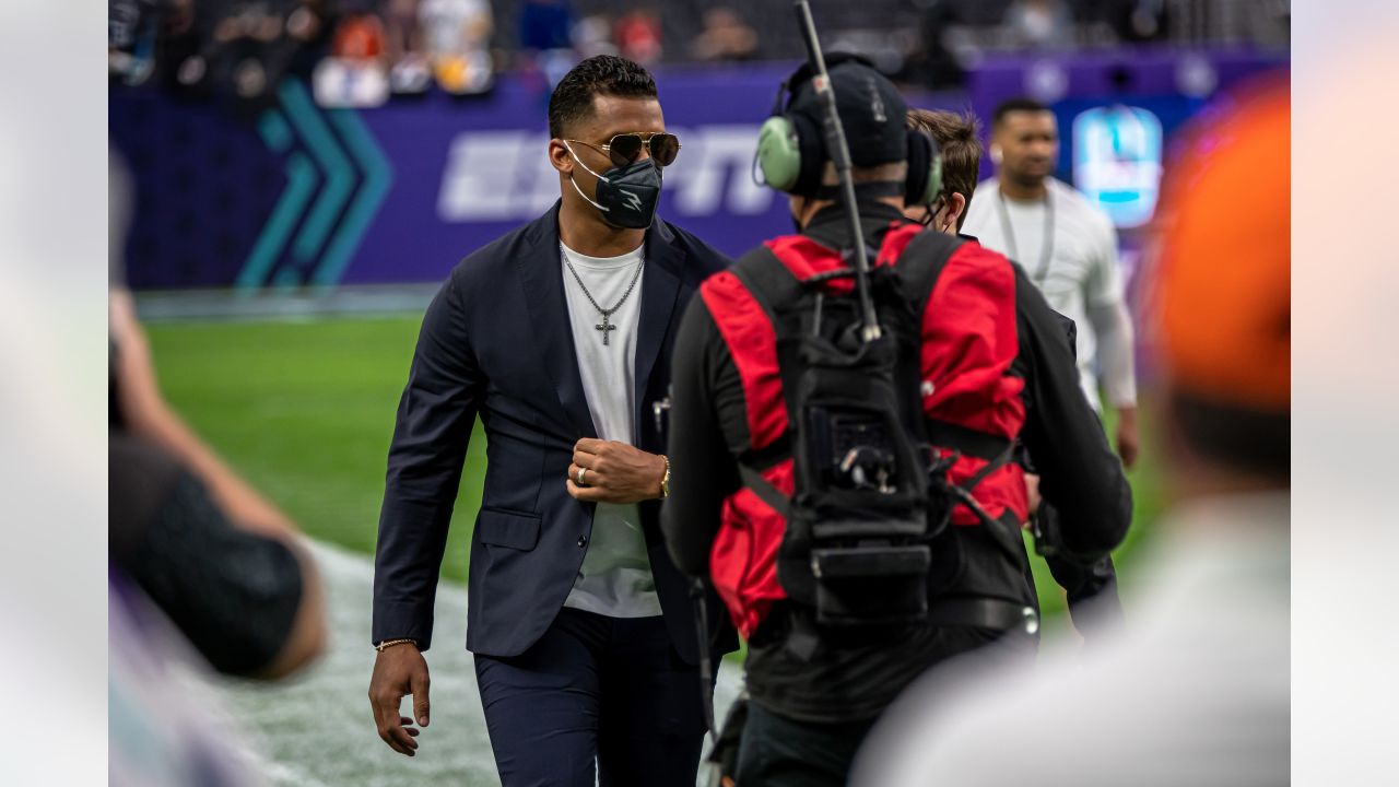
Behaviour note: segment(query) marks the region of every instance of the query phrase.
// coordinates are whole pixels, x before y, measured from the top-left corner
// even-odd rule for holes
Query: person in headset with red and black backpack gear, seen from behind
[[[1045,497],[1080,514],[1073,550],[1116,546],[1132,510],[1059,319],[1004,256],[902,217],[940,193],[936,147],[867,60],[827,63],[880,336],[859,333],[841,253],[856,230],[803,67],[758,143],[800,234],[705,281],[676,339],[684,482],[662,525],[748,639],[744,787],[845,784],[866,731],[929,667],[997,640],[1032,655],[1017,438]]]

